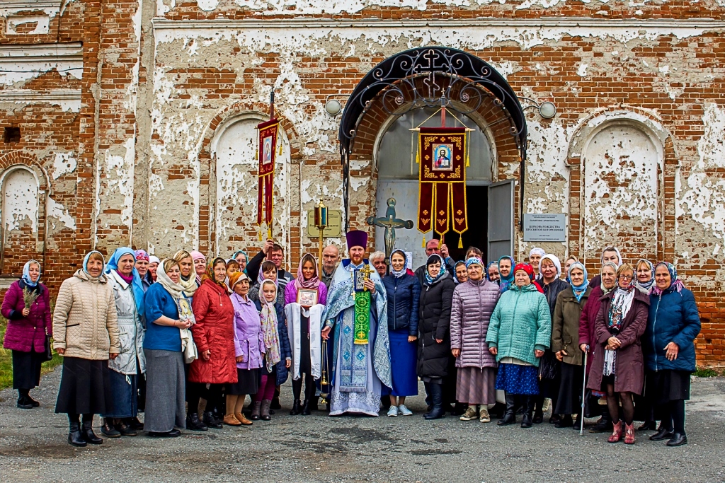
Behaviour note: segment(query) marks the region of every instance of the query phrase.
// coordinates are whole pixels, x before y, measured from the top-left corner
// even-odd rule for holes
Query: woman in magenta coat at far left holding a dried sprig
[[[21,409],[40,406],[30,398],[30,390],[41,383],[46,335],[53,335],[50,296],[40,280],[41,264],[25,262],[20,280],[10,284],[2,300],[2,315],[7,319],[3,347],[12,350],[12,388],[17,389]]]

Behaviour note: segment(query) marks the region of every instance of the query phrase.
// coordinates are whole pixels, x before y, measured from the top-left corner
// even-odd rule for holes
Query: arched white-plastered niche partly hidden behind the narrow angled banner
[[[257,112],[242,112],[225,119],[212,138],[210,148],[215,158],[216,179],[214,241],[219,256],[228,258],[234,251],[258,243],[257,125],[268,119],[268,116]],[[287,246],[290,227],[290,147],[289,138],[281,126],[276,150],[273,238]],[[261,229],[265,229],[264,224]],[[286,256],[289,257],[289,253]]]

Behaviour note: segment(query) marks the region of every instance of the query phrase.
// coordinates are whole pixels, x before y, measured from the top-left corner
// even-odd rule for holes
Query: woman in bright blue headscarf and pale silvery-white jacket
[[[136,253],[116,248],[106,266],[106,277],[113,289],[118,324],[120,353],[109,361],[108,398],[112,408],[101,413],[101,433],[107,437],[136,436],[134,419],[138,415],[138,379],[146,372],[144,356],[144,287],[134,268]]]

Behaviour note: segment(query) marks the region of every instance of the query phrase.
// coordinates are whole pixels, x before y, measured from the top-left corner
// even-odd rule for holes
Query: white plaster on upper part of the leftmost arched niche
[[[2,180],[4,199],[2,224],[5,230],[18,230],[30,223],[31,232],[38,231],[38,180],[29,169],[8,172]]]

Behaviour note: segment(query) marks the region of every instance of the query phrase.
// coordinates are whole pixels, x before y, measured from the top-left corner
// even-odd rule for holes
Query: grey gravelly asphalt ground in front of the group
[[[651,442],[642,432],[628,446],[608,444],[607,434],[579,437],[546,422],[521,429],[450,416],[424,421],[421,396],[410,398],[415,415],[409,417],[289,416],[289,383],[285,409],[270,422],[185,430],[170,440],[141,433],[73,448],[66,442],[67,419],[53,412],[60,373],[43,377],[32,392],[40,408],[18,409],[16,392],[0,392],[2,483],[725,481],[723,378],[694,378],[689,445],[682,448]]]

